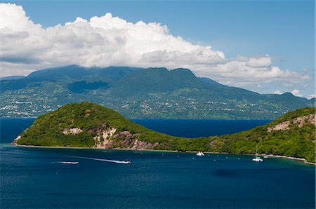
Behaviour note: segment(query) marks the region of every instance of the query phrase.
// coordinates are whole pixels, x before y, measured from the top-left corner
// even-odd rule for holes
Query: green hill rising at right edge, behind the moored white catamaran
[[[315,108],[302,108],[251,130],[213,140],[216,151],[304,158],[315,163]]]

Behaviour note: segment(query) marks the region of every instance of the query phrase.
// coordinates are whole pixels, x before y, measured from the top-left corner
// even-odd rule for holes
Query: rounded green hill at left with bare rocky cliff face
[[[17,143],[49,147],[126,149],[136,145],[137,149],[168,149],[162,146],[172,144],[175,140],[180,138],[149,130],[99,104],[81,102],[66,104],[55,112],[39,116],[21,134]]]

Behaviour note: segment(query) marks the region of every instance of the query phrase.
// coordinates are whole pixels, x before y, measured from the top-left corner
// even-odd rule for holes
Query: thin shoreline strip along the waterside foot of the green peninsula
[[[32,147],[32,148],[52,148],[52,149],[100,149],[97,147],[45,147],[45,146],[34,146],[34,145],[20,145],[16,143],[11,143],[11,145],[16,146],[16,147]],[[160,152],[179,152],[179,153],[196,153],[197,151],[176,151],[176,150],[155,150],[155,149],[124,149],[124,148],[114,148],[114,149],[104,149],[104,150],[122,150],[122,151],[160,151]],[[226,152],[211,152],[211,151],[204,151],[204,153],[207,154],[232,154],[232,153],[226,153]],[[240,154],[240,155],[254,155],[254,154]],[[291,156],[283,156],[283,155],[273,155],[273,154],[259,154],[259,156],[269,156],[269,157],[274,157],[274,158],[282,158],[282,159],[289,159],[289,160],[294,160],[294,161],[303,161],[303,163],[308,164],[308,165],[313,165],[316,166],[316,163],[311,163],[306,161],[306,159],[302,158],[296,158],[296,157],[291,157]]]

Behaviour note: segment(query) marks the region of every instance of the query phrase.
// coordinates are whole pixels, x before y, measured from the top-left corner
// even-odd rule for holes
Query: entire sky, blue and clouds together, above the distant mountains
[[[0,76],[186,67],[258,93],[315,96],[315,1],[3,2]]]

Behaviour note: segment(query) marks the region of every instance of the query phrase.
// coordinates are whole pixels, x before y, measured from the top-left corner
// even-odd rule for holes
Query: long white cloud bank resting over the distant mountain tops
[[[111,13],[90,20],[77,18],[65,25],[44,28],[27,17],[22,6],[1,4],[1,74],[29,74],[36,69],[77,64],[130,67],[186,67],[232,86],[299,83],[310,76],[283,70],[269,55],[237,56],[170,34],[157,22],[127,22]]]

